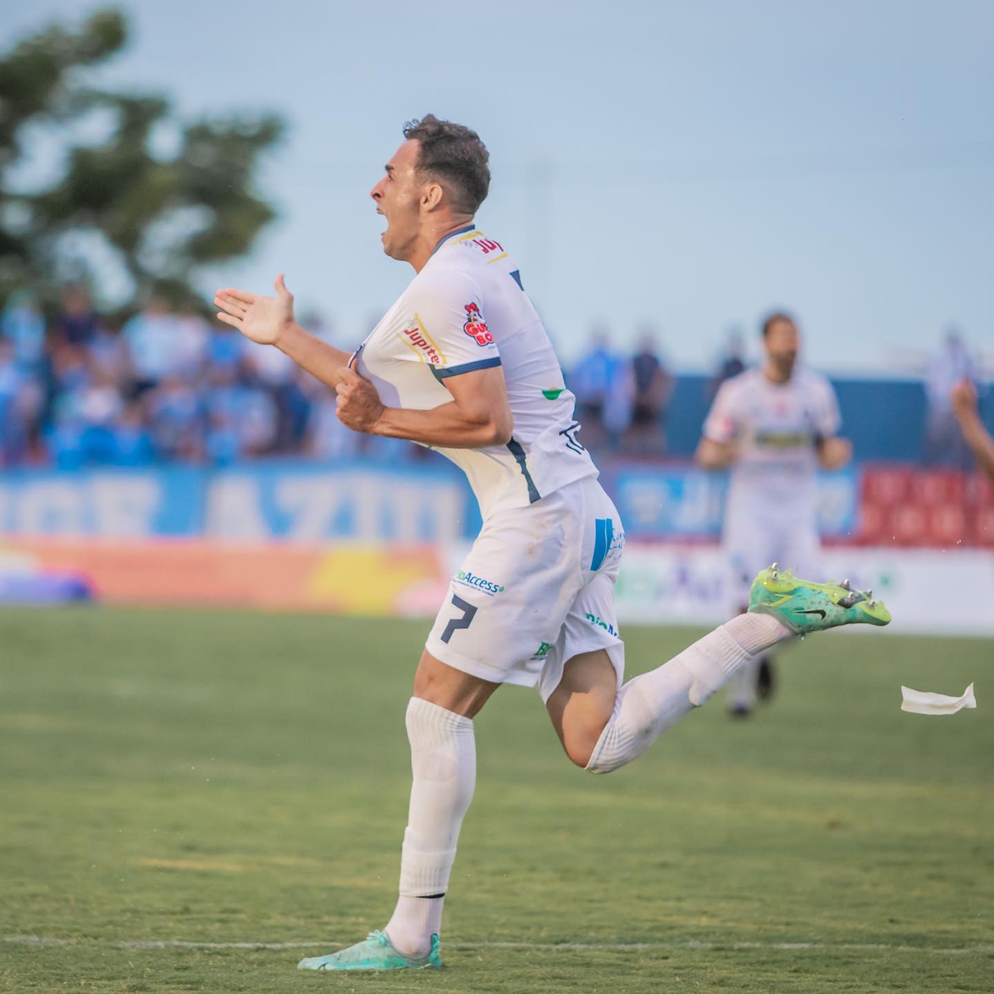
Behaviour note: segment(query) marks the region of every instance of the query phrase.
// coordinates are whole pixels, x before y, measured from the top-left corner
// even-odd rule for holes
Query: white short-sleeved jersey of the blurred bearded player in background
[[[748,369],[723,383],[704,435],[739,445],[728,514],[813,519],[817,442],[836,435],[839,427],[835,391],[820,373],[795,369],[786,383],[772,383],[762,370]]]

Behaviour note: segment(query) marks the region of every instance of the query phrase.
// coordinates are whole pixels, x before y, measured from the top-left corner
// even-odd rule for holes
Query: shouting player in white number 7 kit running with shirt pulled
[[[473,717],[502,684],[536,688],[570,759],[608,773],[792,634],[890,620],[859,591],[767,569],[747,614],[623,683],[613,584],[624,530],[521,272],[473,220],[490,182],[486,148],[430,115],[404,133],[372,197],[387,219],[384,251],[415,276],[351,356],[296,323],[282,276],[275,297],[215,299],[221,320],[335,390],[349,428],[461,467],[483,516],[414,674],[396,908],[383,931],[302,960],[308,970],[441,965],[442,902],[476,778]]]

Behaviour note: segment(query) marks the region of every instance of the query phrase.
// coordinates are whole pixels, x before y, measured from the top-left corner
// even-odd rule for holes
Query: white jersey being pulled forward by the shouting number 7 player
[[[503,366],[514,417],[505,445],[437,451],[460,467],[489,517],[597,473],[577,440],[574,395],[518,267],[475,227],[443,239],[354,357],[389,407],[447,404],[449,376]]]

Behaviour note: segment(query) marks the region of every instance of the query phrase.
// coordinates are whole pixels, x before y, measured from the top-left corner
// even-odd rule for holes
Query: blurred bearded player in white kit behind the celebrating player
[[[762,322],[762,364],[726,380],[704,424],[697,462],[732,470],[723,542],[735,597],[745,611],[749,584],[770,562],[807,575],[820,569],[818,469],[837,470],[852,457],[838,436],[835,391],[820,373],[797,365],[794,319]],[[814,574],[812,574],[812,570]],[[751,713],[772,693],[770,655],[744,667],[729,684],[733,714]]]

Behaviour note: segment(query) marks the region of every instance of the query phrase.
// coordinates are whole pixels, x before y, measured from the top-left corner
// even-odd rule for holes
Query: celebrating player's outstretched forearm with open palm
[[[229,287],[219,290],[214,305],[218,320],[238,328],[249,341],[273,345],[326,386],[339,383],[339,370],[349,361],[349,353],[335,348],[305,331],[293,316],[293,295],[286,289],[283,275],[273,284],[275,297],[263,297],[247,290]]]

